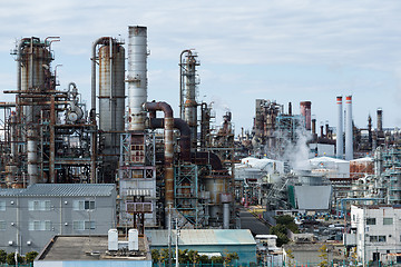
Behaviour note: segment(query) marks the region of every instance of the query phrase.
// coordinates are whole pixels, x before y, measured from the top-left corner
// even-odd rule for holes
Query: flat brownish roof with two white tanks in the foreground
[[[139,236],[139,250],[110,255],[107,235],[55,236],[37,257],[37,260],[151,260],[146,237]]]

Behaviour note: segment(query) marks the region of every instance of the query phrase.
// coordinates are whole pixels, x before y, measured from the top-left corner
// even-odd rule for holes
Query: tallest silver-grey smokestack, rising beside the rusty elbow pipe
[[[128,27],[128,130],[145,130],[147,101],[147,28]]]

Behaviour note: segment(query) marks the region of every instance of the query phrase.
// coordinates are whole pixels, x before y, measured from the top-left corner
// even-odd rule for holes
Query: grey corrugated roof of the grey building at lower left
[[[114,184],[36,184],[26,189],[0,189],[0,196],[107,197],[115,188]]]

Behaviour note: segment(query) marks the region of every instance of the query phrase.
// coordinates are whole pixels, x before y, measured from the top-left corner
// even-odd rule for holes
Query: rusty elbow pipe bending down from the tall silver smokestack
[[[173,146],[173,128],[174,128],[174,117],[173,109],[166,102],[146,102],[144,109],[148,111],[162,110],[165,115],[164,118],[164,137],[165,137],[165,207],[173,206],[174,204],[174,169],[173,169],[173,157],[174,157],[174,146]]]

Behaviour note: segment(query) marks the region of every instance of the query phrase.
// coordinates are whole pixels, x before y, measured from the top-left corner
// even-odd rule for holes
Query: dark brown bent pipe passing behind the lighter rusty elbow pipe
[[[160,129],[164,128],[164,119],[150,118],[150,128]],[[180,157],[184,161],[190,161],[190,128],[188,123],[179,118],[174,118],[174,128],[180,132],[179,150]]]

